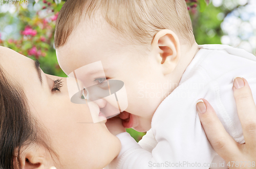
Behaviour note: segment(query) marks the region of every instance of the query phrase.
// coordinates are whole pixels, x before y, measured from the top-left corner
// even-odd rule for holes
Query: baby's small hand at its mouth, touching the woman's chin
[[[125,128],[122,125],[122,119],[118,116],[108,119],[105,124],[109,131],[114,135],[125,132]]]

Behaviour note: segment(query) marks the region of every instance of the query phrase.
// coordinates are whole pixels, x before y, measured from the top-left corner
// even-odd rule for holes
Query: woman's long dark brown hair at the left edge
[[[51,151],[29,113],[23,88],[8,77],[0,65],[0,169],[21,168],[22,148],[33,143]]]

